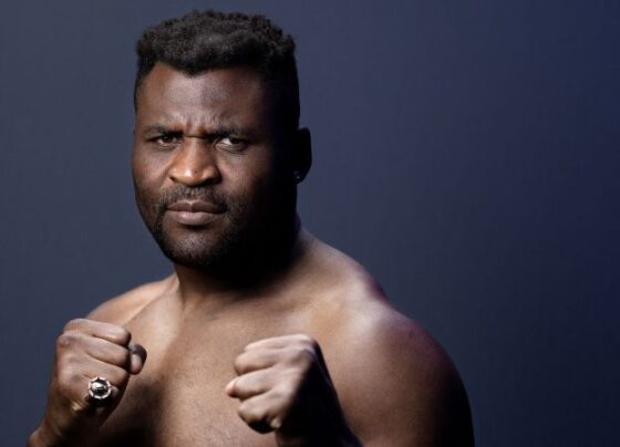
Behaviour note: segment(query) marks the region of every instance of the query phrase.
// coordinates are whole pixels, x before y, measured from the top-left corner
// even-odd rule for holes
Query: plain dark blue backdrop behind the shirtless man
[[[297,38],[302,219],[452,354],[478,446],[620,445],[616,0],[3,4],[1,444],[64,322],[169,271],[133,204],[133,46],[206,6]]]

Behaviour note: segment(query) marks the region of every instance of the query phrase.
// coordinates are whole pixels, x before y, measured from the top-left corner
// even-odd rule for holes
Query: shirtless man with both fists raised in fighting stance
[[[135,195],[174,273],[66,324],[29,445],[473,445],[447,355],[300,226],[293,51],[260,15],[142,35]]]

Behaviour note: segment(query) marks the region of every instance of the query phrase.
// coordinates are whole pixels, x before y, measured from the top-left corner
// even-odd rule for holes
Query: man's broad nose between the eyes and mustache
[[[221,180],[213,149],[200,138],[186,137],[168,169],[169,178],[185,186],[200,186]]]

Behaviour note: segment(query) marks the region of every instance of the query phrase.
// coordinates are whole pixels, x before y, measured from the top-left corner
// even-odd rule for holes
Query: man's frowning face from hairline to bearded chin
[[[269,89],[245,67],[189,76],[157,63],[137,94],[132,168],[141,215],[178,264],[236,262],[294,218]]]

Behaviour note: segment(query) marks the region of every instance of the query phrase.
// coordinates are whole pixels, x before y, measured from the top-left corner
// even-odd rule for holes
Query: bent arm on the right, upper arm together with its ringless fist
[[[239,416],[275,432],[279,446],[473,446],[452,362],[423,330],[394,323],[343,335],[349,343],[332,363],[340,396],[319,344],[302,334],[248,345],[226,392],[240,401]]]

